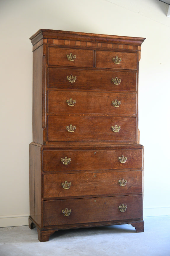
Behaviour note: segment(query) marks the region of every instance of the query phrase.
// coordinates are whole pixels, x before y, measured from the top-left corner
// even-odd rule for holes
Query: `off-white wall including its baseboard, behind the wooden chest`
[[[32,45],[37,30],[146,37],[139,76],[144,145],[144,216],[170,214],[170,18],[158,0],[6,0],[0,2],[0,226],[27,225],[32,141]],[[166,184],[167,182],[167,184]]]

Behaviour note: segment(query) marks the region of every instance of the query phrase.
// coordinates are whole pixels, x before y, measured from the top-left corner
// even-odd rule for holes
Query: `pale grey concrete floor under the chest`
[[[0,228],[1,256],[170,256],[170,216],[145,217],[145,232],[131,225],[60,230],[40,243],[28,226]]]

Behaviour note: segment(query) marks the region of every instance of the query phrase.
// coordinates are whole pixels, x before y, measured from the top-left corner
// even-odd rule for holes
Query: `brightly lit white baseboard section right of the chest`
[[[144,208],[143,217],[170,215],[170,207]]]

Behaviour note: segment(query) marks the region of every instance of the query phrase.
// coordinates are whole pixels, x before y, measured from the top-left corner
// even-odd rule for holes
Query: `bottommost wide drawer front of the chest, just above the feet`
[[[44,201],[44,226],[140,218],[142,195]]]

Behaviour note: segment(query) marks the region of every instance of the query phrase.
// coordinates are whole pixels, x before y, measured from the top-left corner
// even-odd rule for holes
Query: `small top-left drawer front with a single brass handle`
[[[49,47],[48,64],[70,67],[93,67],[93,51]]]

